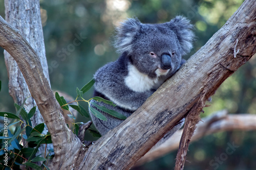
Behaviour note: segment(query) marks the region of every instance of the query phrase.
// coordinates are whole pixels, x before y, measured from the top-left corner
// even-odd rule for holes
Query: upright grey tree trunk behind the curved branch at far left
[[[5,0],[5,18],[6,21],[15,29],[19,30],[30,43],[36,55],[39,57],[44,70],[44,75],[49,81],[39,1]],[[4,52],[4,55],[9,77],[9,93],[15,103],[22,105],[25,99],[31,96],[30,91],[15,60],[6,51]],[[34,99],[30,97],[26,100],[24,108],[27,112],[29,112],[29,110],[34,106],[36,106],[36,103]],[[44,119],[42,118],[38,109],[36,109],[36,113],[31,118],[31,123],[33,127],[44,123]],[[45,130],[42,133],[46,134],[47,131],[48,129],[45,127]],[[47,147],[47,149],[50,149],[49,147]],[[46,154],[45,145],[41,145],[37,154]]]

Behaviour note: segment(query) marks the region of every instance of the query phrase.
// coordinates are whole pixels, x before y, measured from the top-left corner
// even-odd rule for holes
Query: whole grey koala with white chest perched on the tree
[[[191,29],[193,26],[189,20],[182,16],[157,24],[144,24],[137,18],[122,22],[116,30],[114,43],[121,56],[99,68],[94,75],[94,96],[110,100],[117,106],[93,102],[130,116],[185,62],[182,56],[193,47],[194,33]],[[90,114],[101,135],[123,122],[100,112],[108,120],[103,121]],[[181,126],[177,125],[167,135],[172,135]]]

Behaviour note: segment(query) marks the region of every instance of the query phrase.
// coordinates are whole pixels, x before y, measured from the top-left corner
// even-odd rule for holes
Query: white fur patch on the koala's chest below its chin
[[[147,75],[142,74],[134,65],[128,66],[128,72],[124,79],[125,85],[136,92],[157,89],[164,82],[164,79],[159,77],[155,79],[149,78]]]

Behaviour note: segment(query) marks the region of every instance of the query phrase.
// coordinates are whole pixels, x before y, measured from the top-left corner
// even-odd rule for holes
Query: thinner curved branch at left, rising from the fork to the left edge
[[[41,63],[27,40],[17,30],[8,25],[0,16],[0,46],[17,62],[38,109],[45,120],[52,136],[55,157],[51,169],[61,169],[60,165],[73,164],[73,157],[78,152],[81,142],[68,129],[61,114],[61,108],[54,98]],[[65,162],[65,163],[63,163]],[[65,169],[65,167],[62,169]]]

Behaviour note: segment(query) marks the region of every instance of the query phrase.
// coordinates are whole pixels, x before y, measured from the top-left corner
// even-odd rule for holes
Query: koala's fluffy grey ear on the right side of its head
[[[168,27],[174,31],[176,34],[182,52],[181,55],[185,55],[190,52],[191,48],[193,48],[193,40],[195,34],[191,31],[194,27],[191,25],[190,21],[183,16],[176,16],[174,19],[167,22]]]

